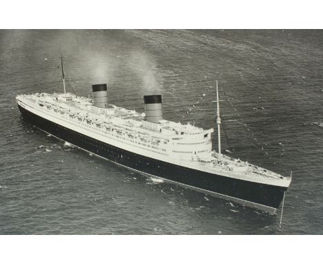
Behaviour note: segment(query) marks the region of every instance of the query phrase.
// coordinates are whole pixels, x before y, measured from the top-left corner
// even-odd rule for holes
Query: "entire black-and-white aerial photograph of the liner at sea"
[[[1,239],[322,235],[322,29],[130,22],[0,30]]]

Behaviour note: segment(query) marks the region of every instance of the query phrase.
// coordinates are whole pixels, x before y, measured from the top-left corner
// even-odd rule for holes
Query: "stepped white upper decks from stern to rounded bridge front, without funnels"
[[[192,124],[181,124],[168,120],[158,123],[147,122],[145,113],[124,109],[112,104],[108,108],[99,108],[86,97],[77,97],[72,93],[35,93],[19,95],[17,98],[37,104],[52,114],[67,115],[79,122],[86,122],[97,128],[110,128],[127,138],[144,138],[150,144],[165,144],[168,155],[184,160],[211,160],[211,133]],[[153,143],[152,143],[153,142]]]

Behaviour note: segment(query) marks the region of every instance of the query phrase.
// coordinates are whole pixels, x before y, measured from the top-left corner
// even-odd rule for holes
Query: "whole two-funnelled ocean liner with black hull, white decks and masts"
[[[66,93],[62,57],[61,71],[63,93],[16,97],[23,118],[39,129],[146,176],[272,214],[280,207],[291,176],[221,153],[218,90],[216,152],[213,129],[164,120],[161,95],[145,95],[145,113],[137,113],[109,104],[106,84],[92,85],[92,100]]]

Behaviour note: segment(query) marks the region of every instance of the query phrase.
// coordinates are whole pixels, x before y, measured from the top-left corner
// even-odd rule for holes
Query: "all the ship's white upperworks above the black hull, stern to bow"
[[[217,175],[288,187],[290,178],[212,150],[211,133],[192,124],[147,122],[144,113],[99,108],[72,93],[18,95],[17,104],[47,120],[115,147]]]

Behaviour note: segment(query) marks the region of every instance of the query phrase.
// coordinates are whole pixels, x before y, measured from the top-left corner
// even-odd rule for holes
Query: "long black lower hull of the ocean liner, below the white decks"
[[[81,149],[95,153],[130,169],[135,169],[141,173],[157,176],[166,181],[174,182],[184,187],[190,187],[213,196],[233,200],[242,205],[260,208],[274,213],[280,206],[284,191],[287,189],[287,187],[265,185],[247,180],[218,176],[213,173],[190,169],[139,155],[67,129],[64,126],[31,113],[19,105],[18,107],[23,118],[28,120],[28,122]]]

